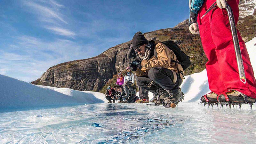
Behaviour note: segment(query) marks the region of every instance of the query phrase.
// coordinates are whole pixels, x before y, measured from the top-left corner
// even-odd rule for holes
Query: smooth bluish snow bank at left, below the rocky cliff
[[[71,89],[42,88],[8,76],[0,75],[0,111],[32,107],[50,107],[103,103],[93,93]],[[97,95],[99,97],[99,94]]]

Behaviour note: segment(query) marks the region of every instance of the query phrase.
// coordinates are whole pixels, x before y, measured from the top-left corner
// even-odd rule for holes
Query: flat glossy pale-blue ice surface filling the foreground
[[[255,110],[89,104],[0,113],[0,143],[215,143],[256,140]]]

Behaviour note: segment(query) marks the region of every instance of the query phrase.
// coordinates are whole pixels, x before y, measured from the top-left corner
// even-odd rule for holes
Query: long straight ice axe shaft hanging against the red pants
[[[239,78],[240,78],[240,81],[245,84],[246,78],[245,78],[245,73],[244,73],[244,64],[243,64],[241,49],[240,49],[238,36],[237,36],[237,32],[236,32],[236,24],[235,24],[235,20],[234,20],[234,15],[233,15],[233,11],[232,11],[231,7],[228,5],[227,2],[226,2],[226,4],[227,4],[226,10],[228,12],[228,20],[229,20],[229,24],[231,27],[233,43],[234,43],[234,47],[235,47],[235,51],[236,51],[236,62],[237,62],[237,67],[238,67],[238,72],[239,72]]]

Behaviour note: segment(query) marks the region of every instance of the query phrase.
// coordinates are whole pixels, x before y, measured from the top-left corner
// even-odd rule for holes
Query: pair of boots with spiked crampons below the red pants
[[[203,96],[204,97],[204,96]],[[216,105],[218,108],[219,108],[219,105],[220,105],[220,108],[223,108],[224,105],[226,105],[227,108],[231,108],[231,106],[233,106],[233,108],[237,105],[239,106],[239,108],[241,109],[241,105],[243,104],[249,104],[250,107],[252,108],[252,105],[253,103],[256,103],[256,99],[254,98],[250,98],[250,97],[247,97],[246,95],[244,95],[243,93],[241,92],[238,92],[236,90],[228,90],[228,92],[226,93],[221,93],[219,96],[218,96],[218,101],[215,102],[215,101],[210,101],[207,99],[207,97],[205,98],[201,98],[201,101],[200,103],[203,103],[204,104],[204,107],[206,104],[208,104],[208,108],[210,106],[213,107],[213,105]]]

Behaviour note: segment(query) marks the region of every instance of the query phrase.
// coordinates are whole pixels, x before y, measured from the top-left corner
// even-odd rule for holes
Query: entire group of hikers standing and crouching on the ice
[[[236,25],[239,16],[238,4],[239,0],[190,1],[189,31],[192,34],[199,34],[200,31],[204,52],[208,58],[206,70],[211,92],[201,97],[204,104],[225,103],[240,106],[249,103],[251,106],[255,103],[256,81],[249,54],[236,29],[246,76],[246,81],[243,81],[239,79],[235,42],[228,25],[228,12],[225,9],[230,7],[233,10]],[[157,40],[148,41],[141,32],[135,33],[127,53],[130,64],[126,68],[126,74],[123,77],[119,73],[116,82],[118,86],[109,86],[106,91],[109,102],[119,97],[119,102],[147,103],[149,91],[154,94],[152,102],[163,104],[166,108],[174,108],[184,98],[179,87],[184,79],[185,68],[183,61],[178,60],[179,53],[175,54],[172,46]],[[131,71],[136,76],[140,99],[136,97],[134,76]]]

